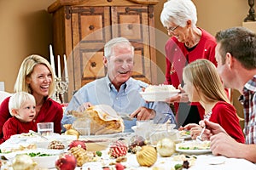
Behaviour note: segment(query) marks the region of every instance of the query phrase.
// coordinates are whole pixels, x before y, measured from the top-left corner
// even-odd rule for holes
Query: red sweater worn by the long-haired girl
[[[233,139],[236,139],[237,142],[245,143],[239,119],[236,115],[236,109],[233,105],[219,101],[212,108],[212,116],[209,121],[218,123]]]

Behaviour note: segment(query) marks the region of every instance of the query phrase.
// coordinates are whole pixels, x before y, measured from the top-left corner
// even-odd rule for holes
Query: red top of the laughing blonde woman
[[[45,99],[41,110],[38,112],[38,117],[33,122],[32,129],[38,131],[38,122],[54,122],[55,133],[61,133],[61,119],[63,110],[59,103],[53,99]],[[9,98],[4,99],[0,105],[0,144],[4,142],[3,139],[3,124],[12,117],[9,113]]]

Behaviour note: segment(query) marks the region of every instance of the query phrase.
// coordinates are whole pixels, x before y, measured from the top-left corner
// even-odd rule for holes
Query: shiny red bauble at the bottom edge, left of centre
[[[73,170],[77,167],[77,160],[71,153],[62,153],[55,161],[55,167],[58,170]]]

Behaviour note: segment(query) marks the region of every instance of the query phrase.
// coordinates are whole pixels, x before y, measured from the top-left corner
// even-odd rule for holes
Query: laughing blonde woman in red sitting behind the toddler
[[[36,115],[33,126],[38,122],[54,122],[54,132],[61,133],[61,119],[63,110],[61,105],[49,97],[54,93],[55,75],[47,59],[32,54],[23,60],[15,82],[15,93],[26,92],[36,99]],[[10,117],[9,98],[0,105],[0,144],[3,139],[3,124]]]

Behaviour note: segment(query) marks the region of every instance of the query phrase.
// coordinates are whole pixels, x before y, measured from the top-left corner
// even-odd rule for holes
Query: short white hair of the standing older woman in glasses
[[[163,26],[168,26],[173,22],[177,26],[186,26],[187,21],[195,27],[197,22],[197,13],[195,4],[191,0],[169,0],[164,3],[164,8],[160,14],[160,20]]]

